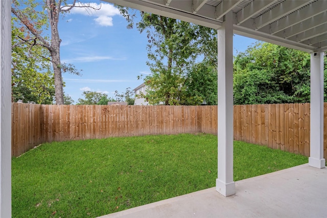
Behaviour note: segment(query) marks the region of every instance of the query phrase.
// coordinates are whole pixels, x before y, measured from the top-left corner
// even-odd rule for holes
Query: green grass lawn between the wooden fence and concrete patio
[[[234,141],[235,181],[307,162]],[[216,178],[216,135],[46,143],[12,159],[12,215],[97,217],[210,188]]]

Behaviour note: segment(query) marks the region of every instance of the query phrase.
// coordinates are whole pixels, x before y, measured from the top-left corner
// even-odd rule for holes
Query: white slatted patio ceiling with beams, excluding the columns
[[[293,49],[327,50],[326,0],[105,0],[219,29],[233,12],[233,32]]]

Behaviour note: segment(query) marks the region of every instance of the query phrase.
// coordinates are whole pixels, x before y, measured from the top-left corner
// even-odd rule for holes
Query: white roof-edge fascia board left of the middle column
[[[163,5],[157,5],[152,2],[145,1],[135,1],[135,0],[104,0],[109,3],[113,3],[116,5],[120,5],[123,7],[134,8],[140,11],[145,11],[149,13],[154,13],[157,15],[171,17],[178,20],[183,20],[186,22],[195,23],[197,25],[201,25],[204,27],[219,29],[221,27],[221,21],[208,19],[205,17],[201,17],[198,14],[187,13],[179,10],[175,10],[172,8],[165,7]],[[171,4],[173,4],[172,2]]]

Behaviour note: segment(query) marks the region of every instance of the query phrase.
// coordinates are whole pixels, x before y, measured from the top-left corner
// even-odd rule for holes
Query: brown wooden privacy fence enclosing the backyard
[[[217,106],[102,106],[12,103],[12,156],[51,141],[205,132]],[[327,103],[324,103],[324,157]],[[309,156],[310,104],[236,105],[234,139]]]

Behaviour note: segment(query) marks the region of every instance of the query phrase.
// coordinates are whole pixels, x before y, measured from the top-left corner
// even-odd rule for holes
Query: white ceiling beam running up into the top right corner
[[[271,23],[270,25],[270,33],[275,34],[279,31],[285,30],[293,25],[296,25],[297,23],[301,22],[302,20],[309,19],[315,15],[318,15],[320,13],[326,12],[326,8],[323,7],[324,4],[327,4],[326,1],[317,1],[309,6],[302,8],[287,17],[284,17],[280,20],[277,20],[274,23]],[[322,18],[324,20],[327,19],[327,17]],[[320,18],[315,19],[317,22],[320,22]],[[304,25],[303,25],[304,26]]]

